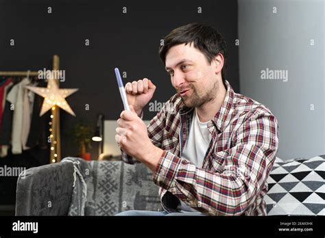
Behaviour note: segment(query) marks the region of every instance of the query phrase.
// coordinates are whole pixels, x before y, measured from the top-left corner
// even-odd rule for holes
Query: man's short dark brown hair
[[[200,23],[189,23],[173,29],[164,38],[163,44],[159,47],[159,56],[166,64],[166,54],[171,47],[178,44],[191,44],[196,49],[199,49],[211,64],[213,57],[221,53],[224,56],[224,67],[221,70],[222,81],[226,86],[226,57],[227,57],[227,46],[224,37],[219,32],[208,25]]]

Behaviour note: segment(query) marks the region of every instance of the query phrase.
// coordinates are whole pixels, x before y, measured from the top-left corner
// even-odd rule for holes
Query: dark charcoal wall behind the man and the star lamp
[[[127,7],[127,14],[122,8]],[[47,7],[52,13],[47,13]],[[202,8],[202,14],[197,8]],[[160,39],[191,22],[213,25],[228,42],[228,80],[239,92],[237,1],[0,1],[0,70],[51,68],[53,54],[66,70],[61,88],[79,88],[67,101],[77,115],[61,112],[62,157],[77,154],[67,132],[78,120],[95,125],[103,112],[108,120],[123,109],[114,68],[127,72],[125,82],[148,77],[157,85],[153,101],[174,94],[158,57]],[[15,46],[10,47],[10,39]],[[85,46],[85,39],[90,46]],[[85,110],[88,104],[90,109]],[[145,111],[145,119],[154,116]],[[97,145],[91,150],[97,158]]]

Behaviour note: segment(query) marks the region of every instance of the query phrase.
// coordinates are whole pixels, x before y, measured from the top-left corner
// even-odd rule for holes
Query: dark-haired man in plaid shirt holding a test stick
[[[146,127],[142,109],[156,86],[127,83],[132,111],[121,113],[115,140],[123,161],[152,170],[165,211],[119,215],[266,215],[278,122],[226,81],[224,38],[213,27],[184,25],[165,37],[160,58],[177,94]]]

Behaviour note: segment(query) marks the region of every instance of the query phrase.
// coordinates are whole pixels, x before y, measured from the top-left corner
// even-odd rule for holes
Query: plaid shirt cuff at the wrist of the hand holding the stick
[[[167,150],[164,150],[161,155],[156,171],[152,175],[154,183],[159,187],[163,187],[166,190],[175,186],[175,178],[178,174],[178,168],[180,167],[182,159],[173,155]]]

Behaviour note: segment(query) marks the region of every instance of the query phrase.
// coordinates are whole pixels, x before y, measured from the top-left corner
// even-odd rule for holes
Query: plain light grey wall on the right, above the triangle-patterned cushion
[[[241,94],[278,118],[278,157],[324,155],[324,1],[238,2]],[[261,79],[266,68],[288,80]]]

